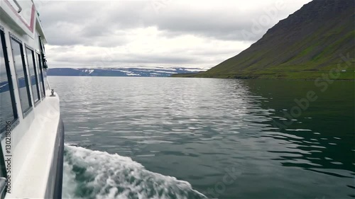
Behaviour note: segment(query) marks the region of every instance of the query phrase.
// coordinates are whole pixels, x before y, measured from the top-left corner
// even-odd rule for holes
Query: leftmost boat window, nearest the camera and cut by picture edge
[[[6,123],[13,124],[18,118],[13,84],[6,52],[4,32],[0,30],[0,132],[6,130]]]

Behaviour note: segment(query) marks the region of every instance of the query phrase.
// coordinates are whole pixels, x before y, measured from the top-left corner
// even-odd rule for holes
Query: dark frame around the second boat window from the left
[[[14,42],[17,42],[18,45],[20,45],[23,76],[25,77],[26,91],[27,91],[28,104],[29,104],[29,107],[26,110],[24,110],[22,107],[21,101],[24,99],[21,97],[20,88],[18,87],[17,89],[18,89],[18,96],[20,97],[20,105],[21,105],[22,115],[23,115],[23,118],[25,118],[28,115],[28,113],[30,113],[31,110],[33,110],[33,103],[31,100],[30,86],[28,84],[28,72],[27,72],[25,54],[23,52],[23,42],[19,38],[17,38],[16,35],[13,35],[13,33],[11,33],[11,32],[9,32],[9,36],[10,36],[10,43],[11,43],[11,50],[12,50],[13,67],[15,69],[15,74],[16,74],[17,87],[19,86],[19,81],[18,81],[18,74],[17,74],[16,64],[15,64],[15,57],[13,55],[13,45],[12,45],[11,40],[13,40]]]

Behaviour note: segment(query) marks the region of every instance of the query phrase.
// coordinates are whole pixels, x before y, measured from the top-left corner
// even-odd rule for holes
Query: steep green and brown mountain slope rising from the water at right
[[[346,72],[338,79],[355,79],[354,29],[354,0],[314,0],[239,55],[207,72],[187,76],[317,79],[342,64]],[[341,55],[353,59],[344,62]]]

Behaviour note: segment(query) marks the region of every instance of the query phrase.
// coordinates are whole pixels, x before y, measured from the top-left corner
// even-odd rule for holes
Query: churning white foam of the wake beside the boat
[[[129,157],[65,146],[62,198],[206,198],[190,183],[148,171]]]

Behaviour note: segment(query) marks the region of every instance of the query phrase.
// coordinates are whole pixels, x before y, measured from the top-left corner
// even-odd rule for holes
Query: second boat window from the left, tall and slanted
[[[25,59],[23,57],[23,47],[19,40],[11,37],[11,47],[13,64],[15,65],[18,93],[20,95],[22,113],[26,114],[31,109],[30,87],[28,86],[28,76],[26,71]]]

